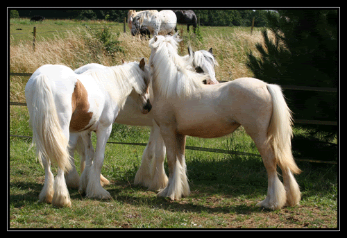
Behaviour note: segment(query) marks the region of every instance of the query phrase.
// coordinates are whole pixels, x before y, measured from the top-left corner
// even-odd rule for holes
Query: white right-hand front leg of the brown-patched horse
[[[101,127],[101,126],[100,126]],[[105,157],[105,146],[110,137],[112,124],[107,128],[98,128],[96,130],[96,150],[92,166],[90,167],[86,196],[88,198],[108,199],[110,193],[107,192],[100,183],[101,168],[103,167],[103,159]]]

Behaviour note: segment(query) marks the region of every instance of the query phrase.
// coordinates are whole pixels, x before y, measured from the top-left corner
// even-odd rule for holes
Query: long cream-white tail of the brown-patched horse
[[[58,164],[62,171],[71,169],[68,152],[69,139],[62,132],[53,93],[45,75],[37,76],[33,85],[31,126],[37,157]]]

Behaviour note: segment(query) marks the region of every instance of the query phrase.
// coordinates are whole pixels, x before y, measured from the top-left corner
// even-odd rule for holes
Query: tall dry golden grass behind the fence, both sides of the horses
[[[247,53],[256,53],[255,44],[262,42],[260,31],[253,34],[240,29],[232,31],[230,35],[213,35],[207,33],[200,42],[194,35],[183,35],[183,44],[180,44],[178,53],[187,54],[187,45],[191,44],[194,51],[208,50],[212,47],[213,53],[219,62],[215,68],[218,80],[234,80],[235,78],[251,77],[252,72],[246,67]],[[88,63],[99,63],[112,66],[121,64],[121,59],[128,62],[139,61],[141,58],[149,59],[151,50],[148,41],[133,37],[130,33],[121,33],[118,37],[123,52],[108,53],[102,49],[94,35],[87,29],[78,31],[56,33],[53,39],[38,37],[36,50],[33,51],[32,42],[19,42],[10,46],[10,71],[17,73],[33,73],[38,67],[46,64],[59,64],[76,69]],[[10,101],[25,101],[24,87],[28,77],[11,76]]]

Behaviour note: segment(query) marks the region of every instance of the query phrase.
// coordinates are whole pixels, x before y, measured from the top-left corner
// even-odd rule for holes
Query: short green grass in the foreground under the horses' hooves
[[[147,128],[115,124],[109,141],[146,142],[148,137]],[[187,150],[192,194],[169,201],[133,185],[144,146],[107,144],[102,173],[111,182],[105,189],[112,199],[96,201],[69,189],[71,208],[58,209],[37,201],[44,171],[33,148],[28,150],[30,144],[31,139],[10,139],[10,228],[337,228],[335,165],[299,162],[301,204],[269,211],[255,207],[267,189],[260,158]],[[233,150],[243,146],[255,153],[252,144],[242,128],[225,138],[187,138],[191,146]],[[77,169],[78,163],[76,156]]]

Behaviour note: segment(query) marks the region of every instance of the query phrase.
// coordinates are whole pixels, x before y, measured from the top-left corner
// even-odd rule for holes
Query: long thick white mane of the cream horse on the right
[[[149,41],[149,65],[153,67],[153,87],[168,99],[191,96],[195,90],[203,87],[202,81],[208,78],[208,75],[198,74],[186,68],[185,60],[177,53],[178,42],[176,35],[158,35]]]

